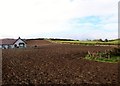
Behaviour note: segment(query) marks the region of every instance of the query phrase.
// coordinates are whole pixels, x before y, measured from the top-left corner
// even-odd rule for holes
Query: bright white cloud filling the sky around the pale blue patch
[[[117,23],[117,8],[118,0],[0,0],[0,34],[28,37],[31,34],[69,33],[71,29],[74,32],[69,20],[91,15],[112,15],[110,19],[103,19],[104,23]],[[103,24],[102,27],[116,29],[116,25]]]

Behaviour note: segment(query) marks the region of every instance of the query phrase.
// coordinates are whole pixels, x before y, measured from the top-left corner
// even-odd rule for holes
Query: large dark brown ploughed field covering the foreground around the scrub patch
[[[3,50],[3,85],[17,84],[109,84],[117,83],[117,63],[83,59],[87,51],[108,46],[50,44]]]

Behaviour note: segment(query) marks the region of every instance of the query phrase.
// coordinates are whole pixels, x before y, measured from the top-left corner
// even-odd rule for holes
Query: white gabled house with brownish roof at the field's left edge
[[[1,39],[0,40],[0,48],[8,49],[8,48],[24,48],[26,47],[26,42],[22,40],[20,37],[18,39]]]

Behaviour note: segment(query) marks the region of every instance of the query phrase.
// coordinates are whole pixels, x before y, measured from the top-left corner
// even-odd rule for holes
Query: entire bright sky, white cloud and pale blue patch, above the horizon
[[[119,0],[0,0],[0,38],[118,38]]]

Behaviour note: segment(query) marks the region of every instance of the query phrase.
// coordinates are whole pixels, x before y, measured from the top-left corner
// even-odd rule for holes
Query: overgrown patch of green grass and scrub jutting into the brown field
[[[114,50],[105,50],[104,52],[94,52],[86,55],[85,59],[100,61],[100,62],[119,62],[120,61],[120,48]]]

